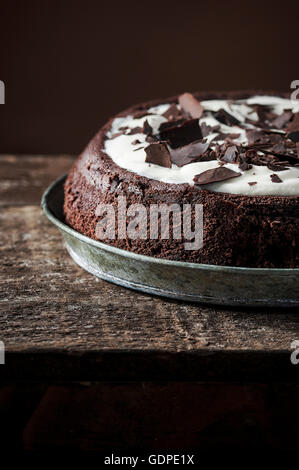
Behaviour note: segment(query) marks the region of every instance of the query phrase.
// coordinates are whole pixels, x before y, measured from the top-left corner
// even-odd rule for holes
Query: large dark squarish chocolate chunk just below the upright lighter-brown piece
[[[177,122],[177,121],[176,121]],[[175,123],[174,123],[175,124]],[[169,141],[172,148],[183,147],[195,140],[202,139],[201,129],[198,119],[189,119],[178,125],[166,128],[159,128],[160,136],[163,140]]]

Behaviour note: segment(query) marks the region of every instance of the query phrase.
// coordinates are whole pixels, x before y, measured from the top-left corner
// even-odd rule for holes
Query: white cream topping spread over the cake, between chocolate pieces
[[[246,128],[253,127],[251,124],[245,123],[246,118],[249,118],[252,121],[257,120],[256,113],[251,107],[247,106],[247,104],[270,105],[273,108],[273,111],[277,114],[281,114],[284,109],[291,109],[293,112],[299,112],[299,102],[273,96],[254,96],[247,100],[239,100],[233,103],[228,100],[209,100],[201,101],[201,104],[207,112],[205,113],[205,116],[199,120],[199,123],[202,124],[205,122],[209,126],[220,125],[220,131],[207,137],[209,142],[211,142],[219,132],[236,133],[240,134],[240,136],[234,139],[234,142],[236,144],[244,145],[248,144],[244,129],[238,126],[226,126],[225,124],[221,124],[208,111],[218,111],[223,108],[241,121],[242,125]],[[153,128],[154,133],[158,133],[160,124],[167,121],[162,114],[167,111],[169,106],[169,104],[161,104],[159,106],[152,107],[148,110],[149,113],[153,113],[152,115],[147,115],[139,119],[134,119],[133,116],[114,119],[111,129],[107,134],[108,138],[105,141],[104,151],[118,166],[140,176],[163,181],[164,183],[188,183],[190,185],[194,185],[193,178],[195,175],[198,175],[205,170],[218,167],[219,161],[212,160],[209,162],[195,162],[183,167],[178,167],[175,164],[172,164],[171,168],[164,168],[159,165],[145,162],[146,153],[144,148],[149,144],[146,142],[146,136],[144,134],[138,133],[128,135],[125,133],[110,139],[113,134],[120,131],[121,127],[127,126],[129,129],[142,127],[146,119]],[[129,132],[129,130],[126,132]],[[132,142],[136,139],[140,141],[140,144],[133,145]],[[218,143],[222,142],[218,141]],[[215,145],[216,142],[211,143],[212,148],[213,144]],[[253,165],[250,170],[246,171],[241,171],[238,165],[233,163],[226,163],[224,166],[241,173],[241,176],[221,181],[219,183],[205,185],[204,188],[222,193],[242,194],[248,196],[299,195],[299,167],[289,167],[287,170],[277,172],[270,170],[267,166]],[[279,176],[282,180],[281,183],[274,183],[271,180],[270,175],[273,175],[273,173],[276,173]],[[248,184],[253,182],[256,182],[256,184]]]

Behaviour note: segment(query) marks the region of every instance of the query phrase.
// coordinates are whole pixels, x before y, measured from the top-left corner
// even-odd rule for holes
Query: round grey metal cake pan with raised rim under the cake
[[[93,240],[64,223],[66,175],[45,191],[42,208],[62,233],[73,260],[86,271],[124,287],[164,297],[217,305],[299,305],[299,268],[243,268],[170,261]]]

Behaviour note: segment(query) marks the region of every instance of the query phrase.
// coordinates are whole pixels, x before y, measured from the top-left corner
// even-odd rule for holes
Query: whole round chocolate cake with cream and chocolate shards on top
[[[145,208],[134,206],[146,233],[129,237],[130,213],[111,221],[108,211],[103,239],[98,208],[118,214],[121,198],[126,207]],[[64,214],[88,237],[147,256],[294,268],[298,203],[298,101],[277,93],[184,93],[131,107],[100,129],[68,174]],[[200,248],[186,249],[183,231],[175,236],[172,213],[169,234],[151,236],[151,206],[173,204],[182,213],[191,207],[192,216],[202,207]]]

